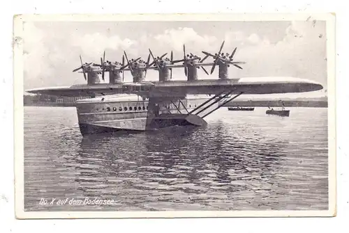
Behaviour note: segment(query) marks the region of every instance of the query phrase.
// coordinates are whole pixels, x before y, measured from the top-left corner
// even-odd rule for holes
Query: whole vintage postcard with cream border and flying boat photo
[[[336,215],[335,15],[16,15],[17,218]]]

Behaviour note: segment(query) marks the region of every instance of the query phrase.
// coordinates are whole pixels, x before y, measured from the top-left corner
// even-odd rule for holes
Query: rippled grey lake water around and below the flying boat
[[[327,209],[327,109],[290,108],[289,118],[266,109],[83,138],[75,108],[24,107],[25,211]]]

